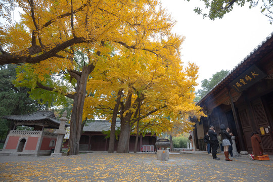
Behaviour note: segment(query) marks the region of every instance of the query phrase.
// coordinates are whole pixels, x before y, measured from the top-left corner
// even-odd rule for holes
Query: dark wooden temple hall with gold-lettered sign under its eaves
[[[273,32],[223,78],[197,105],[208,117],[194,129],[196,148],[204,150],[203,137],[214,125],[230,127],[237,150],[252,152],[250,134],[260,133],[266,154],[273,154]]]

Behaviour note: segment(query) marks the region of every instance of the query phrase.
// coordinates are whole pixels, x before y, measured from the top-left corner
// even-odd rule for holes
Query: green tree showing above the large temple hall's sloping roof
[[[211,78],[203,79],[201,81],[202,89],[198,89],[197,96],[195,98],[195,102],[198,102],[199,100],[201,100],[228,73],[229,73],[229,70],[221,70],[221,71],[213,74]]]

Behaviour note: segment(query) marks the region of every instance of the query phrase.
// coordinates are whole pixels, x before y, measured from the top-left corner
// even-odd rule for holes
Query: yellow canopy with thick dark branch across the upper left
[[[3,0],[1,18],[11,20],[11,7],[23,11],[20,24],[1,24],[0,65],[9,63],[61,62],[71,66],[67,48],[87,43],[100,51],[101,41],[111,41],[128,49],[156,52],[147,39],[170,33],[174,21],[152,0]],[[7,12],[7,13],[5,13]],[[54,66],[52,66],[54,67]]]

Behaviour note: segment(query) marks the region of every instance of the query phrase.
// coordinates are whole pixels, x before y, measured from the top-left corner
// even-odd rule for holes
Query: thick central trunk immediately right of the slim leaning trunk
[[[131,106],[131,100],[132,100],[132,93],[128,91],[128,96],[125,103],[124,111],[127,111]],[[119,141],[118,141],[118,148],[117,153],[125,153],[127,152],[126,147],[128,147],[128,133],[130,135],[130,119],[132,116],[132,112],[127,112],[123,120],[121,120],[121,127],[120,127],[120,135],[119,135]]]

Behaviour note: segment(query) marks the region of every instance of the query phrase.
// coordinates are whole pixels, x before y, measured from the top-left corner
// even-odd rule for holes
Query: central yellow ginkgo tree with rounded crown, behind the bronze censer
[[[119,50],[110,62],[96,66],[93,79],[87,83],[87,90],[95,95],[85,99],[83,114],[88,117],[101,110],[101,115],[111,117],[120,105],[115,112],[121,119],[117,152],[128,152],[130,132],[139,121],[142,126],[146,122],[150,131],[160,133],[171,130],[174,120],[186,126],[184,118],[203,115],[193,102],[198,67],[181,66],[178,50],[182,41],[176,37],[154,42],[161,50],[158,55],[145,50]],[[172,121],[164,117],[159,120],[158,116],[170,116]]]

